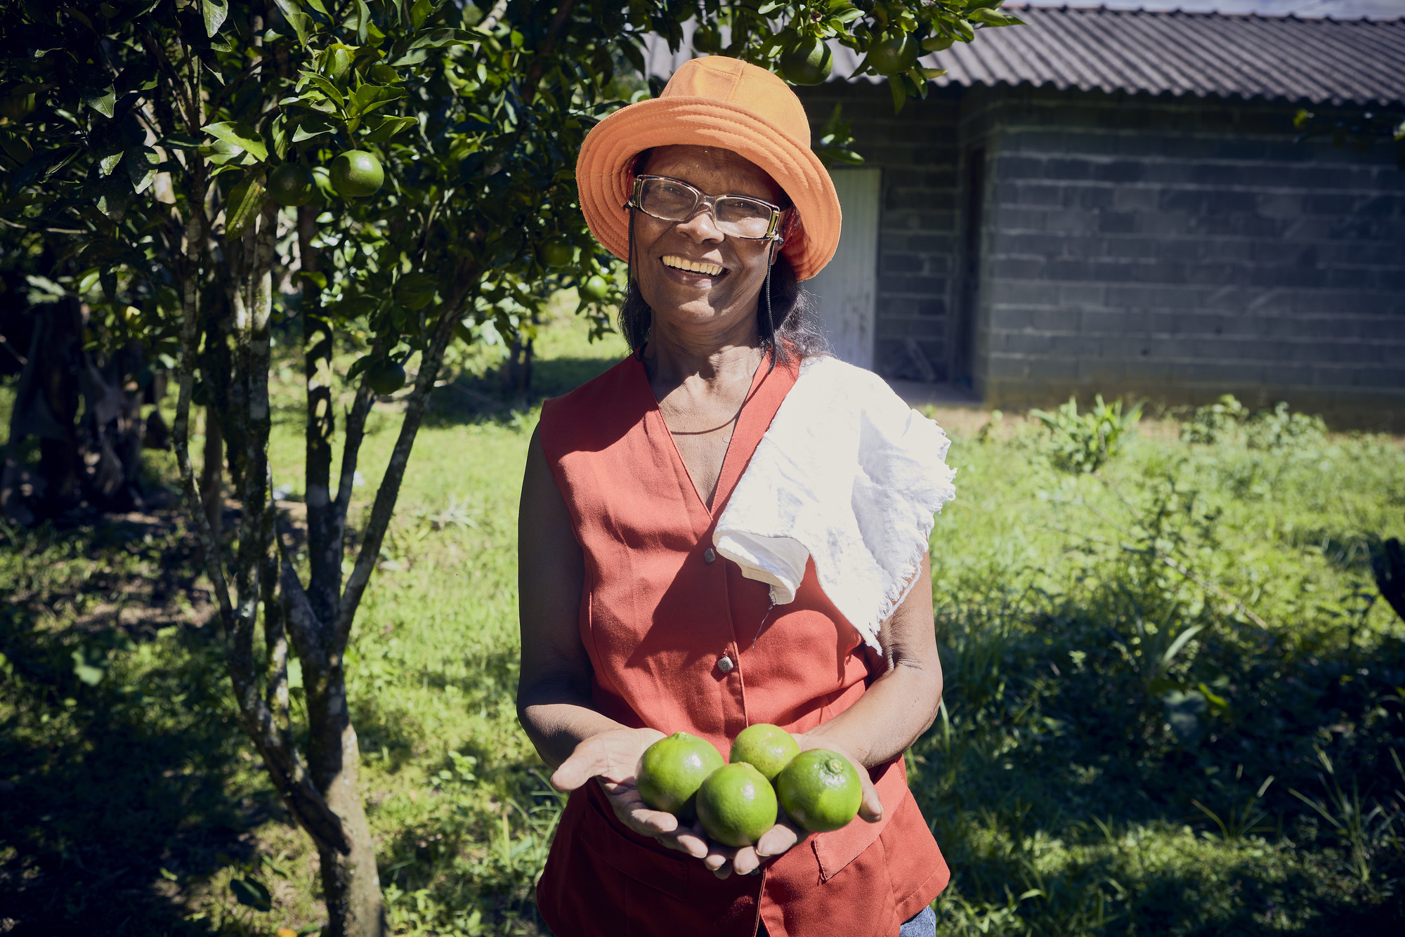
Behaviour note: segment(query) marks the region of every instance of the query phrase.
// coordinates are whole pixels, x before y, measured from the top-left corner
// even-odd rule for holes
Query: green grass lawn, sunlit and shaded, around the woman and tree
[[[538,350],[559,393],[624,347],[565,315]],[[292,378],[273,458],[296,497]],[[483,382],[437,393],[357,620],[398,933],[544,933],[559,799],[513,705],[537,414]],[[932,539],[947,695],[909,768],[953,867],[939,933],[1405,930],[1405,622],[1368,565],[1405,535],[1401,441],[1145,421],[1089,475],[1034,421],[937,417],[960,466]],[[398,426],[372,417],[355,513]],[[316,931],[316,857],[240,736],[176,509],[0,530],[0,933]]]

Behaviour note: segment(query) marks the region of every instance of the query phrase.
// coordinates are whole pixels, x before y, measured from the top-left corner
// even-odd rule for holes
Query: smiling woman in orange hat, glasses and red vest
[[[854,409],[844,428],[844,398],[882,385],[828,358],[805,315],[798,284],[835,253],[839,201],[809,150],[804,110],[769,72],[693,60],[659,98],[597,125],[576,177],[592,232],[629,264],[620,323],[634,354],[547,402],[523,480],[517,707],[552,784],[572,792],[538,888],[541,915],[561,937],[930,933],[947,868],[902,763],[941,695],[929,502],[909,511],[917,523],[903,532],[917,548],[898,558],[895,600],[871,622],[839,611],[854,590],[821,586],[818,552],[811,561],[777,546],[802,573],[781,596],[781,579],[759,572],[764,558],[724,553],[764,535],[718,535],[739,486],[766,490],[750,472],[774,465],[757,452],[763,437],[776,450],[783,405],[804,413],[823,402],[819,423],[791,417],[788,427],[833,440],[809,445],[804,461],[819,454],[840,478],[863,458],[881,479],[885,461],[916,451],[912,433],[940,437],[887,388],[878,409],[896,419],[865,434],[858,427],[878,424]],[[871,451],[858,452],[860,438]],[[919,475],[944,471],[934,451],[944,445],[922,450],[916,461],[937,465]],[[940,480],[950,487],[948,475]],[[864,485],[877,487],[867,475]],[[863,492],[826,500],[795,480],[780,494],[763,499],[815,503],[797,520],[806,531],[826,513],[858,528],[850,502]],[[860,586],[884,593],[884,583]],[[757,723],[849,759],[860,819],[808,836],[781,818],[749,844],[724,846],[643,804],[636,771],[653,742],[687,732],[726,752]]]

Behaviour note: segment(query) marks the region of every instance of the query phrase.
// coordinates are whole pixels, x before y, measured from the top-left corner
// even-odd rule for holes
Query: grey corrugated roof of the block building
[[[1027,25],[979,30],[969,45],[958,42],[923,56],[924,66],[947,69],[936,84],[1031,84],[1318,105],[1405,104],[1405,18],[1003,8]],[[844,80],[858,66],[858,56],[837,44],[833,48],[832,80]],[[672,74],[687,58],[687,52],[670,56],[662,41],[649,52],[649,70],[662,74]],[[865,80],[877,81],[871,76]]]

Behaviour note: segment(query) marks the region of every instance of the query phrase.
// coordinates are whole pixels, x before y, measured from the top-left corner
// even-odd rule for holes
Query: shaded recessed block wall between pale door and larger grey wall
[[[957,296],[957,140],[960,90],[892,111],[887,86],[867,81],[798,89],[816,139],[835,104],[851,121],[854,149],[882,167],[874,367],[888,378],[950,379]],[[909,341],[910,340],[910,341]]]

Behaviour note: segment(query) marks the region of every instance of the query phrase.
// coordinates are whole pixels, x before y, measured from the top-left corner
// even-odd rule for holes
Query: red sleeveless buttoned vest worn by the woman
[[[580,641],[593,705],[628,726],[691,732],[725,756],[749,725],[808,732],[887,669],[825,598],[811,563],[767,614],[763,583],[711,549],[712,527],[795,384],[757,369],[712,511],[693,486],[642,362],[631,357],[541,413],[541,444],[584,551]],[[599,784],[572,792],[537,888],[558,937],[889,937],[948,871],[902,759],[870,771],[880,823],[812,834],[760,875],[718,879],[701,860],[624,829]]]

